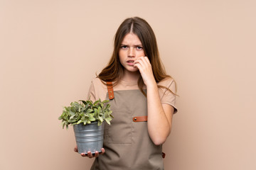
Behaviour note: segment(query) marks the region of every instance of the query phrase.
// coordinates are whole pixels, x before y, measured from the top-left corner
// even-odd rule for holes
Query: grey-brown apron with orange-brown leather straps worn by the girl
[[[162,147],[154,145],[147,130],[146,97],[139,89],[113,92],[108,84],[109,98],[114,118],[105,124],[105,154],[91,170],[163,170]]]

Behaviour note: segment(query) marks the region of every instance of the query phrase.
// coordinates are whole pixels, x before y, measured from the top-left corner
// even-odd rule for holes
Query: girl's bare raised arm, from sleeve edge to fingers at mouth
[[[148,57],[139,57],[134,61],[134,67],[139,69],[146,85],[149,136],[155,145],[161,145],[171,132],[171,118],[174,108],[171,106],[164,106],[163,108]]]

